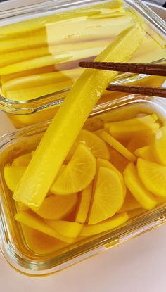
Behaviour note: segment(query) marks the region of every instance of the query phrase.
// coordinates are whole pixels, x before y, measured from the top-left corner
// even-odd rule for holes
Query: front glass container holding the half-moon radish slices
[[[158,115],[160,125],[166,124],[166,106],[157,98],[130,95],[109,101],[94,108],[84,125],[85,129],[101,129],[104,122],[127,120],[144,114]],[[43,276],[58,272],[92,255],[108,250],[165,223],[166,205],[160,202],[152,210],[138,208],[128,212],[129,220],[119,227],[103,233],[79,238],[70,244],[59,244],[51,236],[28,229],[14,220],[16,206],[12,193],[4,181],[4,165],[25,153],[33,151],[50,121],[18,129],[0,139],[0,246],[1,253],[18,272]],[[25,186],[26,187],[26,186]],[[71,219],[72,220],[72,219]]]

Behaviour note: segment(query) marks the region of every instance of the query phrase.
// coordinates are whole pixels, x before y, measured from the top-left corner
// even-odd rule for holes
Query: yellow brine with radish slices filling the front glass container
[[[141,96],[89,116],[39,210],[15,202],[13,191],[47,125],[23,129],[1,154],[4,209],[25,257],[41,262],[92,241],[101,244],[103,234],[127,228],[166,202],[165,109]]]

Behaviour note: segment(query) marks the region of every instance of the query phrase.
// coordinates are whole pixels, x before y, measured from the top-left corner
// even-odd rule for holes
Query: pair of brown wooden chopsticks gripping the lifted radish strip
[[[166,65],[145,64],[145,63],[113,63],[113,62],[79,62],[83,68],[98,70],[112,70],[117,72],[129,72],[137,74],[147,74],[155,76],[166,76]],[[109,85],[106,90],[129,92],[131,94],[142,94],[148,96],[166,97],[166,88],[162,87],[141,87],[126,85]]]

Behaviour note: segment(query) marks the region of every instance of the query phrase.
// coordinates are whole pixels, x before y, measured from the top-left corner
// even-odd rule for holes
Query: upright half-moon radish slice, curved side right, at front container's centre
[[[124,189],[114,170],[100,167],[91,203],[88,224],[96,224],[115,215],[124,202]]]

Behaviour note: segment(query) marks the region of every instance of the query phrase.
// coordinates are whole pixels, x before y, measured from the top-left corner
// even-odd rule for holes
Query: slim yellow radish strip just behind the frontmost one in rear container
[[[13,74],[17,72],[23,72],[26,70],[32,70],[34,68],[46,67],[49,65],[55,65],[67,61],[70,59],[68,54],[62,54],[60,56],[44,56],[40,58],[34,58],[31,60],[25,60],[20,63],[8,65],[4,68],[0,68],[0,75]]]

